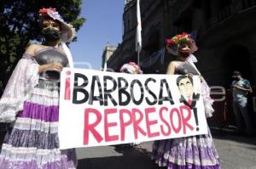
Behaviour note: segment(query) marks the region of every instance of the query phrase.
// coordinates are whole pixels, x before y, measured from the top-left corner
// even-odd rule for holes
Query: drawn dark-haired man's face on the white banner
[[[190,76],[178,76],[177,87],[184,97],[189,98],[194,93],[193,79]]]

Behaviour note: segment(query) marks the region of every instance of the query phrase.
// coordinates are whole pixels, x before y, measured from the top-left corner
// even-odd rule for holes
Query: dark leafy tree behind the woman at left
[[[38,10],[56,8],[63,19],[79,31],[82,0],[1,0],[0,2],[0,95],[10,73],[30,41],[40,41]],[[76,38],[73,40],[76,41]]]

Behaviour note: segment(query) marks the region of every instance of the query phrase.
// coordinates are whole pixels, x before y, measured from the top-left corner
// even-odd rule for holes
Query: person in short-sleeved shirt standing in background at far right
[[[232,88],[233,111],[236,116],[236,125],[238,132],[243,131],[243,121],[246,125],[246,134],[252,134],[252,121],[248,112],[247,93],[253,93],[253,89],[249,81],[241,77],[239,71],[234,71]]]

